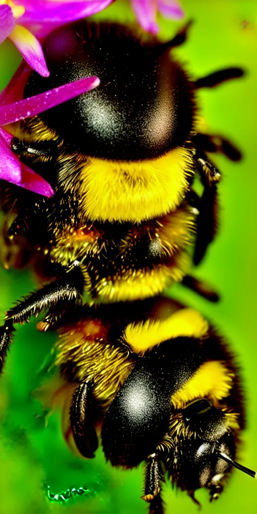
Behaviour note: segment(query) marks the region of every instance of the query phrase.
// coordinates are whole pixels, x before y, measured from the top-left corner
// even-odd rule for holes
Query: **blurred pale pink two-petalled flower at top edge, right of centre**
[[[172,20],[181,20],[183,11],[177,0],[131,0],[139,25],[146,31],[157,34],[159,27],[156,15],[159,10],[162,16]]]

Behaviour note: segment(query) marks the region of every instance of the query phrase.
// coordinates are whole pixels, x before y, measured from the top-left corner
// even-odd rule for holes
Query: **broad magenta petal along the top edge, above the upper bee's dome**
[[[19,22],[33,34],[45,37],[51,30],[65,23],[81,20],[105,9],[114,0],[24,0],[26,10]]]

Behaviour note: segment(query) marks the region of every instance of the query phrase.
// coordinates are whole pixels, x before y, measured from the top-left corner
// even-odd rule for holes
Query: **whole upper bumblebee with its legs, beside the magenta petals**
[[[13,219],[6,237],[9,243],[23,237],[36,271],[51,282],[7,311],[2,362],[13,323],[48,309],[41,323],[47,329],[85,292],[91,302],[124,302],[183,280],[212,296],[187,276],[186,248],[196,232],[199,263],[215,233],[220,173],[205,152],[222,151],[232,160],[240,152],[221,137],[196,132],[195,97],[198,88],[243,71],[191,80],[171,51],[185,41],[188,26],[166,43],[116,24],[85,22],[46,39],[50,77],[33,72],[25,96],[92,74],[101,84],[15,127],[13,152],[55,194],[4,191],[3,207]],[[200,197],[192,187],[197,170]]]

